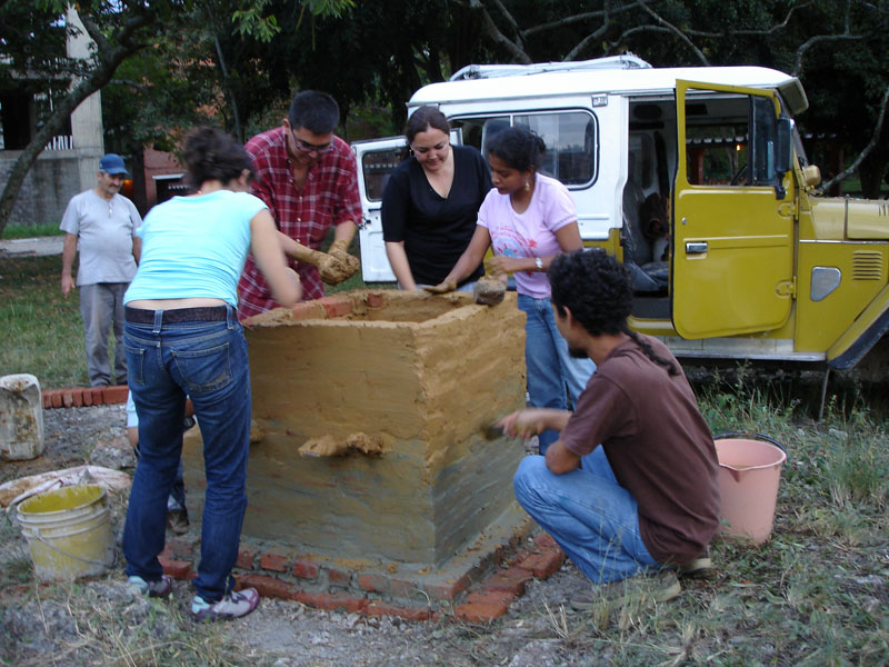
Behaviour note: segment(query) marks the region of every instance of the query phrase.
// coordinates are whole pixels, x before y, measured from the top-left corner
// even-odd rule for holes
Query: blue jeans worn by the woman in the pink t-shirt
[[[577,399],[596,371],[591,359],[575,359],[568,344],[556,327],[549,299],[519,295],[519,309],[525,323],[525,365],[528,368],[528,395],[536,408],[573,409]],[[559,439],[559,432],[540,434],[540,454]]]

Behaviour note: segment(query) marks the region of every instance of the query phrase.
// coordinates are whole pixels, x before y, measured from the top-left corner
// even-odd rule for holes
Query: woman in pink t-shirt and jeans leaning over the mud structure
[[[568,189],[538,171],[545,151],[543,140],[520,127],[507,128],[490,139],[488,166],[495,189],[479,209],[466,251],[433,289],[453,289],[492,247],[495,257],[488,271],[515,275],[519,308],[528,316],[525,362],[531,405],[570,409],[596,366],[588,358],[572,358],[556,328],[546,271],[553,258],[582,248],[583,241]],[[543,431],[540,454],[557,438],[557,431]]]

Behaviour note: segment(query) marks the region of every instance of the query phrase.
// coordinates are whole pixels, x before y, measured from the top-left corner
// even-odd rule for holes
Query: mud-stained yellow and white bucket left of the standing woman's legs
[[[100,575],[114,563],[104,489],[68,486],[19,505],[19,524],[41,579]]]

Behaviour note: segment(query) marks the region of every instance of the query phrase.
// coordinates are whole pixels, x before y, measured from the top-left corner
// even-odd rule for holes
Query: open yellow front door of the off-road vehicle
[[[771,90],[677,81],[672,321],[687,339],[768,331],[790,316],[792,179],[776,170]]]

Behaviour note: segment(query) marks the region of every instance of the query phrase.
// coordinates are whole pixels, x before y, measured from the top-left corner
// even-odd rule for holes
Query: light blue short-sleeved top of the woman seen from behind
[[[250,220],[264,208],[258,197],[231,190],[174,197],[152,208],[138,231],[142,256],[123,302],[209,298],[237,308]]]

